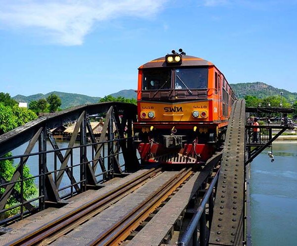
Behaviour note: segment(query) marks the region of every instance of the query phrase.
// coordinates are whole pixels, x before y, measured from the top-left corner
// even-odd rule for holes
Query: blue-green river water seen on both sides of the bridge
[[[68,146],[67,142],[57,144],[59,148]],[[13,150],[13,154],[23,154],[26,146]],[[48,149],[52,149],[49,142]],[[88,159],[92,159],[90,150],[88,148]],[[38,152],[38,145],[32,152]],[[267,153],[268,149],[251,163],[253,246],[297,246],[297,143],[273,144],[274,162],[270,161]],[[79,160],[79,149],[74,151],[74,159]],[[29,160],[27,164],[31,173],[37,175],[38,157],[31,156]],[[53,154],[48,156],[48,163],[49,170],[53,170],[53,164],[50,164],[53,163]],[[61,186],[69,184],[69,179],[64,176]],[[74,176],[79,180],[79,167],[74,168]]]

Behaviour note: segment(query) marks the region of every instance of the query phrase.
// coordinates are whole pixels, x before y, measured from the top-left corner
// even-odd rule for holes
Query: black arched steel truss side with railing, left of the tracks
[[[105,115],[99,139],[95,138],[89,119],[95,113]],[[0,167],[15,168],[11,173],[0,170],[0,224],[4,219],[5,223],[22,219],[48,206],[61,206],[68,197],[99,189],[100,183],[114,175],[137,169],[139,160],[132,133],[135,119],[135,105],[98,103],[39,118],[1,135]],[[60,148],[50,129],[73,120],[76,124],[68,147]],[[12,156],[11,150],[26,143],[24,154]],[[27,166],[32,175],[28,175]],[[30,190],[34,185],[38,194],[36,189]],[[7,219],[11,214],[16,215]]]

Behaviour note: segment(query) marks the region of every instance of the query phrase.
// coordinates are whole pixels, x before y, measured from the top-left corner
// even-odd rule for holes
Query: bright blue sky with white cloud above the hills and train
[[[0,0],[0,92],[103,97],[182,48],[297,92],[297,0]]]

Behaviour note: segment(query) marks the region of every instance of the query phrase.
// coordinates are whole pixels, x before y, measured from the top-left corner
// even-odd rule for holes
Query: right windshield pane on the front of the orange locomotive
[[[178,68],[175,70],[175,89],[207,88],[207,68]]]

